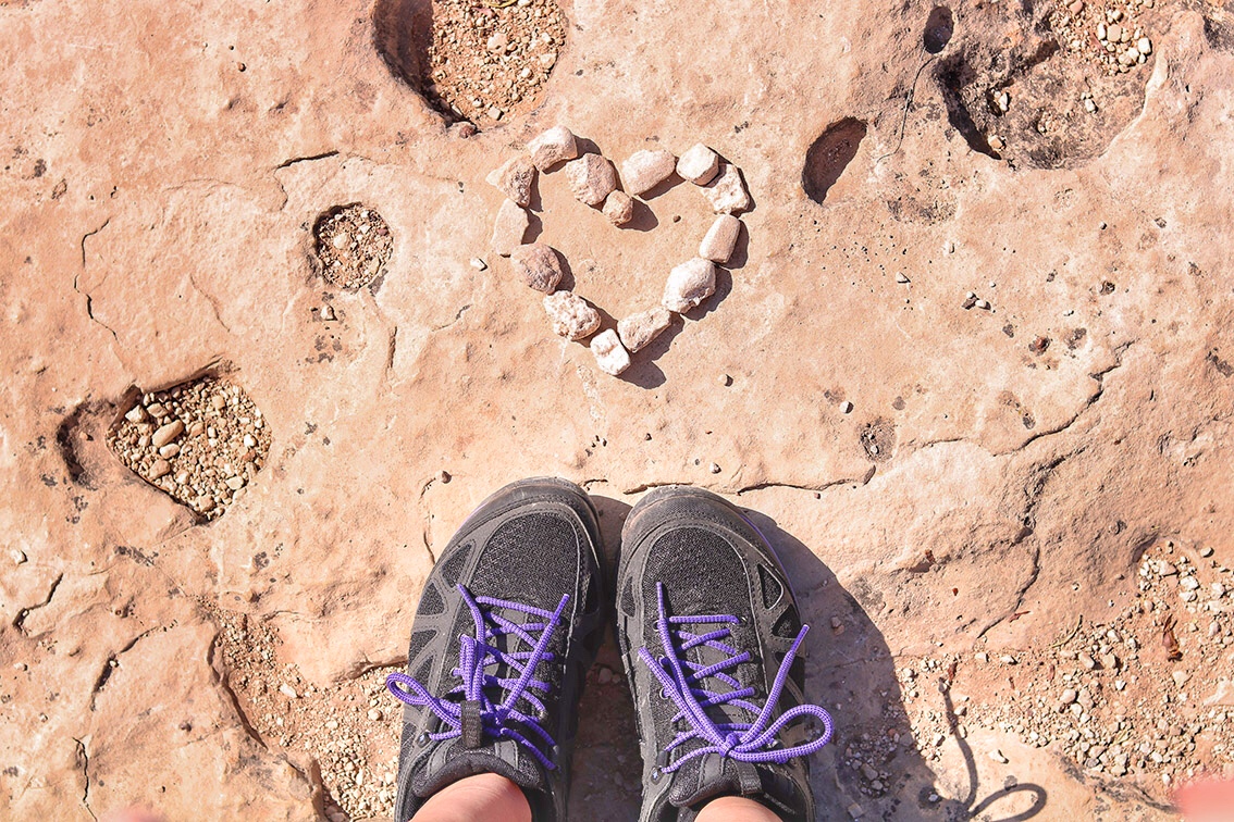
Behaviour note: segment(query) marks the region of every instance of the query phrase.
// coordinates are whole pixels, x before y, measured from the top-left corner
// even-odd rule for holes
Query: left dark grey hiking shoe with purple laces
[[[465,776],[500,774],[532,818],[565,818],[579,693],[603,633],[595,508],[563,479],[481,503],[442,552],[412,626],[395,820]]]

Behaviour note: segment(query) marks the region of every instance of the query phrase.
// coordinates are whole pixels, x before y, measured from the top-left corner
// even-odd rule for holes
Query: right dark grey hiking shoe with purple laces
[[[617,638],[642,742],[639,820],[687,822],[735,795],[813,821],[806,757],[830,739],[832,718],[805,704],[807,630],[771,547],[737,508],[686,487],[634,507]]]

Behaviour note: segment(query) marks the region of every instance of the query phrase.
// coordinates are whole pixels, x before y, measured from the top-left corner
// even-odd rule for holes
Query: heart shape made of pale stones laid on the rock
[[[669,328],[673,315],[697,307],[716,291],[716,266],[733,256],[742,221],[737,214],[750,207],[740,170],[724,163],[698,143],[675,157],[663,149],[643,149],[621,164],[621,174],[603,155],[580,153],[579,139],[565,126],[554,126],[527,144],[527,153],[506,161],[487,176],[506,200],[497,210],[492,250],[510,258],[515,274],[531,288],[543,292],[544,311],[553,332],[568,340],[591,338],[591,352],[605,373],[619,375],[629,367],[629,355],[645,348]],[[700,205],[710,205],[716,219],[701,238],[697,254],[673,267],[663,295],[654,306],[600,330],[600,312],[573,291],[558,290],[564,255],[540,242],[523,243],[531,228],[532,192],[540,174],[563,171],[580,203],[603,212],[615,227],[634,218],[636,197],[663,191],[674,174],[701,192]],[[544,230],[552,230],[544,226]],[[685,251],[685,249],[684,249]],[[649,296],[648,303],[653,302]],[[600,332],[600,333],[597,333]]]

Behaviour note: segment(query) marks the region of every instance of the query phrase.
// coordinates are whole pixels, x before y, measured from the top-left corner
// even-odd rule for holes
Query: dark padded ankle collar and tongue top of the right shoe
[[[748,796],[787,818],[796,818],[802,813],[805,797],[798,795],[793,780],[777,770],[776,765],[755,765],[708,753],[673,774],[669,801],[676,807],[690,807],[717,796]]]

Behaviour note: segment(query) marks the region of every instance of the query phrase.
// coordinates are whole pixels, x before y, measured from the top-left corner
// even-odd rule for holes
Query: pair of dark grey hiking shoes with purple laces
[[[643,822],[689,822],[712,799],[812,821],[805,757],[832,735],[805,701],[801,625],[758,529],[689,487],[649,493],[622,529],[616,629],[638,714]],[[494,773],[536,822],[564,822],[578,704],[607,624],[596,509],[563,479],[506,486],[466,519],[421,595],[395,818]]]

